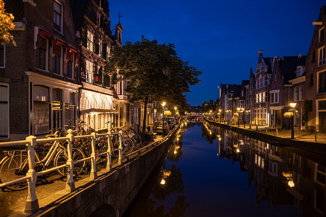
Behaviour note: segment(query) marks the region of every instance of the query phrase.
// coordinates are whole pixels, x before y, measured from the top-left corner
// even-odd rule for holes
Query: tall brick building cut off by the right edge
[[[309,47],[306,61],[305,100],[312,106],[308,110],[307,125],[313,131],[326,133],[326,65],[325,26],[326,6],[320,8],[316,28]]]

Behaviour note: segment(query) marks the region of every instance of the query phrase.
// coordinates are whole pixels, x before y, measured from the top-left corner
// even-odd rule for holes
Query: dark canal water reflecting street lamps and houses
[[[325,161],[184,120],[124,216],[324,216]]]

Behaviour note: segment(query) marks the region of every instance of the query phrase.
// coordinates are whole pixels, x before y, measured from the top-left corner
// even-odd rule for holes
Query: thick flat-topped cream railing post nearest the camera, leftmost
[[[28,196],[26,199],[26,205],[25,205],[25,212],[31,213],[35,212],[39,209],[38,206],[38,200],[35,194],[36,191],[36,180],[37,180],[37,173],[34,170],[35,165],[35,146],[36,146],[36,137],[35,136],[29,136],[26,137],[26,140],[28,140],[30,143],[26,144],[28,146],[28,166],[29,170],[26,173],[26,176],[30,176],[31,178],[27,180],[28,183]]]

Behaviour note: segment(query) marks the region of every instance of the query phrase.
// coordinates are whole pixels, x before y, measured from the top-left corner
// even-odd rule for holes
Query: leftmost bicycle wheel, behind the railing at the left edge
[[[22,168],[25,167],[25,168]],[[9,182],[13,179],[19,179],[26,176],[28,171],[28,156],[24,154],[16,154],[12,157],[7,157],[0,167],[0,183]],[[7,189],[18,191],[26,189],[28,184],[26,181],[11,184],[6,186]]]

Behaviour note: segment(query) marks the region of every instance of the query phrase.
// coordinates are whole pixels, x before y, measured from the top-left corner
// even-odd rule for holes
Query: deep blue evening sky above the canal
[[[110,1],[112,28],[122,13],[123,43],[141,35],[174,43],[178,56],[202,71],[188,103],[216,99],[221,83],[240,84],[267,57],[307,55],[322,0]]]

